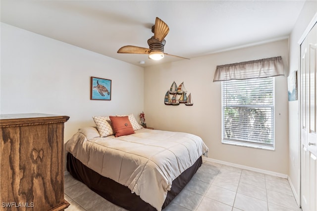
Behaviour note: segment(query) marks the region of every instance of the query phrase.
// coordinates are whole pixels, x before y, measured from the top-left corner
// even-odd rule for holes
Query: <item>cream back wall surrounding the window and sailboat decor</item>
[[[275,151],[221,144],[221,83],[212,82],[216,65],[281,55],[288,72],[288,40],[215,53],[145,68],[145,115],[148,126],[199,135],[209,158],[288,174],[287,77],[275,78]],[[165,106],[172,82],[184,82],[194,106]]]

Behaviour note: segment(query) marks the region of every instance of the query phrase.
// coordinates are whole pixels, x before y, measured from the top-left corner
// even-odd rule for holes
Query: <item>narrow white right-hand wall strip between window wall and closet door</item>
[[[289,69],[288,74],[300,70],[300,46],[298,41],[306,30],[308,24],[317,13],[317,1],[306,1],[297,19],[289,41]],[[299,74],[300,72],[298,72]],[[299,105],[298,101],[291,101],[289,106],[289,180],[297,203],[300,198],[300,135],[299,135]]]

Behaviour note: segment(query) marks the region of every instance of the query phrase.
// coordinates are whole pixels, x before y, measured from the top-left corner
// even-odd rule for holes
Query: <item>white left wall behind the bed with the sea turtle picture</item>
[[[65,141],[93,115],[143,110],[144,69],[1,23],[0,113],[70,116]],[[111,101],[90,100],[90,77],[112,80]],[[138,118],[137,118],[138,119]]]

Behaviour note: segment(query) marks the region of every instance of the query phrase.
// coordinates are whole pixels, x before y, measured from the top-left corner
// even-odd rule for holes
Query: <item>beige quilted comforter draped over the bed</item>
[[[208,152],[200,137],[188,133],[141,129],[128,136],[100,138],[93,130],[97,131],[79,130],[67,142],[66,151],[127,186],[158,211],[172,181]]]

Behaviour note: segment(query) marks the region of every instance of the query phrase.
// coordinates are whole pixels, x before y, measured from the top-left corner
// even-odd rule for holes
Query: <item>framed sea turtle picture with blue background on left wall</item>
[[[111,80],[90,77],[90,100],[111,101]]]

